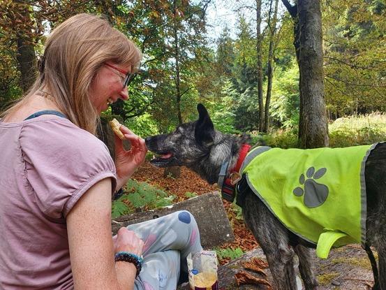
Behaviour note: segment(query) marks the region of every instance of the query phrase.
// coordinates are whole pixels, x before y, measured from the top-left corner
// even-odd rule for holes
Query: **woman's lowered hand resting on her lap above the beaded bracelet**
[[[128,231],[128,229],[122,227],[117,235],[112,237],[112,242],[114,243],[115,253],[130,252],[142,256],[144,242],[133,231]]]

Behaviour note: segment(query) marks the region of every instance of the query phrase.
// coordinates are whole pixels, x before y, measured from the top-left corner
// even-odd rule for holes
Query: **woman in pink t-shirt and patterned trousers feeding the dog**
[[[175,289],[180,268],[186,276],[186,256],[202,249],[188,212],[111,236],[112,194],[147,148],[121,126],[131,150],[116,137],[113,162],[94,133],[99,114],[128,99],[140,58],[94,15],[47,38],[38,79],[0,120],[1,289]]]

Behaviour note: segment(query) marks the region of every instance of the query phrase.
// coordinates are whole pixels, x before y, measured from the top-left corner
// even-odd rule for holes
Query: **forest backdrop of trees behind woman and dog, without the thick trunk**
[[[107,17],[142,51],[140,72],[128,87],[130,100],[106,113],[120,115],[135,133],[170,131],[195,119],[196,104],[204,103],[220,131],[262,135],[273,146],[301,146],[294,19],[283,5],[297,2],[221,1],[232,11],[232,21],[214,36],[218,27],[207,17],[218,3],[1,0],[0,110],[34,81],[50,29],[75,13],[89,12]],[[383,133],[385,1],[322,0],[320,8],[329,145],[372,142],[355,140],[358,133],[340,125],[342,117],[367,116],[360,125],[364,133]],[[331,126],[336,119],[337,132]]]

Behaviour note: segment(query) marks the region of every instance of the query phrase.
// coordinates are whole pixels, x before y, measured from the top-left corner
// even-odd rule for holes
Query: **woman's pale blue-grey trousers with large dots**
[[[175,290],[180,273],[188,277],[186,256],[202,250],[197,223],[185,210],[127,229],[144,241],[142,270],[135,280],[138,290]]]

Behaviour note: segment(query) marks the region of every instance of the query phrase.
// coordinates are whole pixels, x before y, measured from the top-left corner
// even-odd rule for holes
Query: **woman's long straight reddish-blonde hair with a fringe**
[[[141,57],[135,44],[107,20],[86,13],[70,17],[47,38],[34,85],[2,115],[13,113],[44,88],[71,122],[94,134],[99,116],[90,101],[89,87],[98,69],[106,61],[137,68]]]

